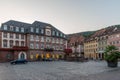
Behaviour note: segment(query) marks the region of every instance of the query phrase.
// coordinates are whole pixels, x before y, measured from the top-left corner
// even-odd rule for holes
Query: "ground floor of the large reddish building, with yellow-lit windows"
[[[4,49],[0,50],[0,62],[9,62],[16,59],[27,59],[29,61],[40,61],[42,59],[59,60],[64,58],[62,51],[41,51],[41,50],[13,50]]]

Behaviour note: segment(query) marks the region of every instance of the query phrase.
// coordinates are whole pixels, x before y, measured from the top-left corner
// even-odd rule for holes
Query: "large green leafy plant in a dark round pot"
[[[107,46],[104,54],[104,58],[108,63],[108,67],[118,66],[118,58],[120,57],[120,52],[114,45]]]

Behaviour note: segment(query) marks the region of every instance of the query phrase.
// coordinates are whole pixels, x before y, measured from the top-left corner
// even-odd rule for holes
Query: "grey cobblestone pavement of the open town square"
[[[0,80],[120,80],[118,68],[105,61],[0,63]]]

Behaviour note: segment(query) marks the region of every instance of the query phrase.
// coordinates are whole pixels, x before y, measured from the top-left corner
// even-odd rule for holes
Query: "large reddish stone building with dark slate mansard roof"
[[[10,20],[0,29],[0,61],[43,58],[59,59],[64,56],[66,35],[48,23],[32,24]]]

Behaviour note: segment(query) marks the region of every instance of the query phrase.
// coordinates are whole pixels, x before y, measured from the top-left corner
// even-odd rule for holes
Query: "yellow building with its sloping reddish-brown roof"
[[[84,42],[84,53],[85,58],[90,59],[99,59],[99,47],[101,47],[100,43],[100,36],[105,33],[106,29],[101,29],[96,31],[93,35],[91,35],[88,39]]]

